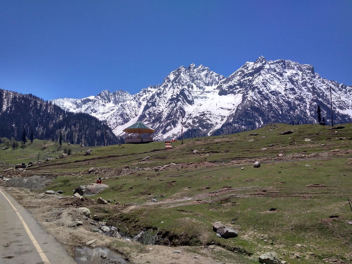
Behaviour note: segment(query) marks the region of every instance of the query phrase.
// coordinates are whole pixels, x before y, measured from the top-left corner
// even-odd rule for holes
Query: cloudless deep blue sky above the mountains
[[[225,76],[260,55],[352,85],[352,1],[0,0],[0,88],[136,93],[181,65]]]

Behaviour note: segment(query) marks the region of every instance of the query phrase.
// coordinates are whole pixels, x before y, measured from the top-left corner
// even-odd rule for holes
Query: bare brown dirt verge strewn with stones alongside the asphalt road
[[[213,257],[218,252],[228,255],[229,252],[219,246],[180,246],[167,247],[163,245],[141,245],[137,242],[127,241],[119,238],[107,237],[100,233],[94,233],[97,221],[93,216],[84,219],[78,213],[77,208],[89,207],[99,209],[109,209],[119,211],[124,207],[112,205],[98,205],[91,199],[78,199],[69,196],[45,195],[28,193],[25,189],[16,187],[7,191],[18,200],[24,207],[38,219],[40,224],[59,242],[61,242],[67,251],[73,254],[72,249],[75,247],[86,246],[89,240],[94,240],[95,247],[108,247],[124,255],[127,262],[130,263],[218,263]],[[61,199],[58,199],[62,197]],[[36,201],[36,206],[33,204]],[[131,206],[132,207],[132,206]],[[132,208],[130,208],[132,209]],[[68,225],[76,219],[83,222],[76,227]],[[92,245],[92,246],[93,246]],[[178,250],[181,253],[173,251]],[[195,253],[197,252],[197,253]],[[227,259],[226,263],[238,263],[235,260],[235,254],[232,258]]]

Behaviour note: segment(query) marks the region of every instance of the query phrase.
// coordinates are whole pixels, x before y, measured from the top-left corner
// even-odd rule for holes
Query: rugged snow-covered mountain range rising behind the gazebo
[[[253,129],[269,122],[316,122],[317,105],[328,119],[330,87],[335,122],[351,122],[352,86],[320,77],[312,65],[266,61],[263,56],[246,62],[227,78],[191,64],[172,71],[162,84],[134,95],[103,90],[96,96],[52,102],[107,120],[116,135],[142,121],[156,130],[156,139],[170,139],[180,136],[181,115],[183,131],[196,135]]]

